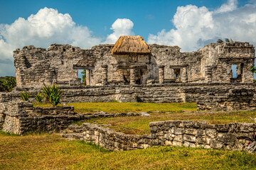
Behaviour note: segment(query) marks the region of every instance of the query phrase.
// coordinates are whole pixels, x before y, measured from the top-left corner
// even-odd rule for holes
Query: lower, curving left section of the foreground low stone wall
[[[104,127],[104,126],[103,126]],[[125,135],[122,132],[114,132],[110,128],[103,128],[100,125],[83,123],[81,126],[69,125],[71,132],[60,134],[66,138],[75,138],[92,142],[95,145],[112,151],[144,149],[151,147],[151,135]]]

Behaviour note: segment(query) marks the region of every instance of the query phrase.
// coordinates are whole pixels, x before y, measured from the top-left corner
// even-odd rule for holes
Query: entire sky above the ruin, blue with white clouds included
[[[52,43],[90,48],[119,35],[193,51],[233,38],[256,45],[256,1],[2,1],[0,76],[14,75],[12,51]]]

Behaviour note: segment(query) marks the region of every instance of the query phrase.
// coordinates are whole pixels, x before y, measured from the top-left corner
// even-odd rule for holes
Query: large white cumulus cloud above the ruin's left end
[[[77,26],[68,13],[42,8],[27,19],[18,18],[11,25],[0,24],[0,76],[15,74],[12,54],[16,47],[48,47],[51,43],[68,43],[88,48],[100,41],[100,38],[92,36],[87,27]]]

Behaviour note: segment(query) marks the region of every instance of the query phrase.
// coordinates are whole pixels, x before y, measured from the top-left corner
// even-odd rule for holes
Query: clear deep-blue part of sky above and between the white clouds
[[[78,25],[87,26],[98,36],[112,33],[112,23],[117,18],[129,18],[134,23],[134,32],[146,40],[149,33],[156,34],[162,29],[174,28],[171,20],[178,6],[192,4],[198,7],[206,6],[215,10],[224,4],[225,0],[103,0],[103,1],[1,1],[0,23],[13,23],[18,17],[28,18],[41,8],[58,9],[59,13],[69,13]],[[243,6],[247,1],[238,1]]]

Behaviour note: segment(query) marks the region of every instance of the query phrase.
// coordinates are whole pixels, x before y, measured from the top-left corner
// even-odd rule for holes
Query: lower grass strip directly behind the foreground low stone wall
[[[234,122],[254,123],[256,112],[230,112],[230,113],[150,113],[149,117],[114,117],[114,118],[93,118],[78,123],[95,123],[110,125],[111,129],[125,134],[144,135],[150,134],[149,123],[164,120],[196,120],[210,124],[224,124]]]

